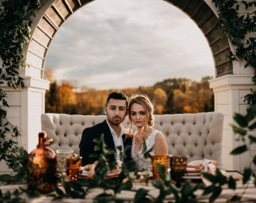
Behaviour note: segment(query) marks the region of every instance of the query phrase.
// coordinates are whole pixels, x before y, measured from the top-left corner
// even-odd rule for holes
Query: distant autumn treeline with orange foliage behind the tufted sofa
[[[154,103],[154,114],[198,113],[214,110],[214,94],[209,88],[212,77],[203,77],[200,82],[186,78],[170,78],[153,86],[127,89],[80,89],[77,91],[69,82],[58,84],[54,71],[46,70],[50,89],[46,91],[46,113],[63,114],[104,114],[104,106],[109,93],[119,90],[131,97],[143,93]]]

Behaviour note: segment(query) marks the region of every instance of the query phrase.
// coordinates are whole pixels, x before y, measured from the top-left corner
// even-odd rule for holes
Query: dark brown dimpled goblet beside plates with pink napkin
[[[187,161],[188,156],[170,156],[170,165],[171,165],[171,179],[176,181],[176,187],[180,188],[181,178],[187,172]]]

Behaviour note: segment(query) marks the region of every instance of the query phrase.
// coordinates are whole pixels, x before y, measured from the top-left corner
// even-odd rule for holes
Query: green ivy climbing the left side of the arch
[[[7,119],[7,93],[1,86],[24,88],[23,78],[19,76],[25,67],[24,45],[31,37],[33,16],[40,6],[40,0],[5,0],[0,3],[0,162],[6,161],[12,169],[19,152],[17,137],[20,130]]]

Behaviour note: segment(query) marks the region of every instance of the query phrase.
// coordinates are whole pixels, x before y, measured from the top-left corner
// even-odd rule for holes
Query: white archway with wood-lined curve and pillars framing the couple
[[[245,113],[243,97],[249,93],[249,89],[255,88],[251,82],[254,68],[245,69],[242,62],[229,63],[227,55],[233,47],[227,40],[220,38],[221,27],[217,24],[215,5],[210,0],[165,1],[177,6],[193,19],[208,41],[215,61],[215,79],[210,81],[210,88],[215,93],[215,111],[224,114],[223,166],[242,171],[245,161],[249,160],[248,154],[236,157],[229,155],[237,145],[229,124],[234,123],[234,113]],[[43,80],[43,74],[50,42],[65,20],[89,2],[92,0],[47,0],[33,19],[32,38],[25,49],[27,67],[20,71],[25,88],[2,87],[7,93],[10,106],[7,119],[20,127],[22,137],[19,142],[28,152],[37,145],[37,133],[41,131],[41,114],[45,112],[45,93],[50,82]],[[1,168],[0,173],[8,171],[6,166]]]

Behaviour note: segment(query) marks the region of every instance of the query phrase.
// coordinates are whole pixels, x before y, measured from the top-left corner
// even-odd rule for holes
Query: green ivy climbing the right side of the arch
[[[231,53],[231,61],[245,61],[245,68],[254,67],[253,84],[256,84],[256,2],[236,1],[236,0],[212,0],[219,9],[219,24],[222,25],[223,38],[231,41],[235,47],[235,53]],[[246,15],[239,14],[241,7],[246,11]],[[246,37],[248,35],[249,37]],[[256,90],[251,89],[251,93],[245,96],[245,101],[249,109],[256,105]],[[256,117],[256,113],[254,114]]]

